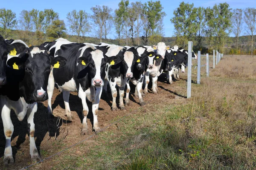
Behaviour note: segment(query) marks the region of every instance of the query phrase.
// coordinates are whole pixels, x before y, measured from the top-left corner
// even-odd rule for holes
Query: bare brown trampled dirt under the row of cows
[[[175,81],[173,84],[167,84],[165,81],[165,74],[162,74],[157,82],[158,94],[154,94],[151,91],[151,84],[149,85],[149,93],[143,98],[147,105],[143,107],[150,108],[150,104],[154,101],[161,102],[173,99],[184,99],[186,94],[186,79],[187,76],[184,73],[180,73],[180,79]],[[131,83],[130,83],[131,84]],[[108,96],[106,96],[108,95]],[[135,111],[141,107],[139,105],[139,99],[134,96],[134,86],[131,85],[131,104],[126,107],[126,111],[111,111],[111,93],[102,94],[99,103],[98,121],[101,129],[111,124],[113,119],[117,116],[122,117]],[[185,99],[184,99],[185,100]],[[116,101],[119,101],[117,99]],[[80,136],[82,126],[82,105],[81,100],[77,96],[76,92],[70,93],[70,109],[73,116],[72,122],[67,121],[65,116],[64,102],[62,99],[62,93],[57,88],[54,90],[52,97],[52,110],[54,117],[47,118],[47,101],[38,103],[38,111],[35,113],[35,142],[38,150],[41,152],[42,159],[45,159],[49,155],[58,153],[58,150],[70,147],[79,141],[87,139],[93,135],[93,115],[91,112],[91,103],[87,101],[89,107],[89,114],[87,116],[88,133],[85,136]],[[118,103],[118,102],[117,102]],[[8,166],[3,166],[3,155],[5,148],[5,136],[3,133],[3,122],[0,119],[0,169],[20,169],[26,167],[32,163],[29,155],[29,137],[27,135],[27,121],[25,119],[20,122],[18,121],[14,112],[11,113],[12,122],[14,125],[14,133],[12,135],[12,152],[15,159],[15,163]],[[106,130],[106,129],[105,129]],[[113,127],[107,130],[114,130]],[[88,147],[95,144],[95,138],[93,136],[88,140],[84,141]],[[61,146],[57,145],[56,142],[61,142]],[[87,152],[84,150],[84,152]],[[45,156],[44,153],[47,153]],[[76,154],[76,153],[74,153]],[[48,159],[41,164],[40,169],[50,169],[51,165],[54,164],[52,159]],[[32,169],[34,169],[32,167]]]

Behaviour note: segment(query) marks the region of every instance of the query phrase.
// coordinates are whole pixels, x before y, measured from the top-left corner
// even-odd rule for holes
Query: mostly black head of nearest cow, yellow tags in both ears
[[[32,46],[21,55],[23,62],[15,61],[15,58],[7,61],[7,64],[14,70],[23,72],[20,95],[24,97],[27,103],[47,100],[46,91],[51,66],[61,68],[66,65],[67,59],[61,56],[52,58],[46,48],[42,46]]]

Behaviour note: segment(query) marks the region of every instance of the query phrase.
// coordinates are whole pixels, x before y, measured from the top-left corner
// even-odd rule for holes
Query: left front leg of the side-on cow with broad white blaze
[[[88,89],[90,91],[90,89]],[[78,96],[81,99],[82,105],[83,105],[83,122],[82,122],[82,130],[81,135],[85,135],[87,133],[88,127],[87,127],[87,115],[89,113],[89,108],[86,103],[86,92],[83,91],[81,86],[79,87]]]

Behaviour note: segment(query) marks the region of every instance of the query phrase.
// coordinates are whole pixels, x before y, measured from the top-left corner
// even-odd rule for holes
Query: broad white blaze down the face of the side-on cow
[[[103,82],[102,78],[100,77],[101,63],[102,63],[102,59],[104,58],[103,52],[101,50],[96,49],[95,51],[92,51],[90,53],[92,54],[92,58],[93,58],[95,68],[96,68],[95,77],[92,78],[92,85],[94,85],[93,81],[95,79],[99,79],[102,81],[101,86],[103,86],[104,82]]]

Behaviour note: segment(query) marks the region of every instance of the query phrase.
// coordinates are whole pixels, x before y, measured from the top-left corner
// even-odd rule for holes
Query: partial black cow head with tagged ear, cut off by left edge
[[[7,41],[7,42],[6,42]],[[0,87],[6,84],[6,61],[14,55],[19,55],[28,48],[21,40],[5,40],[0,35]]]

